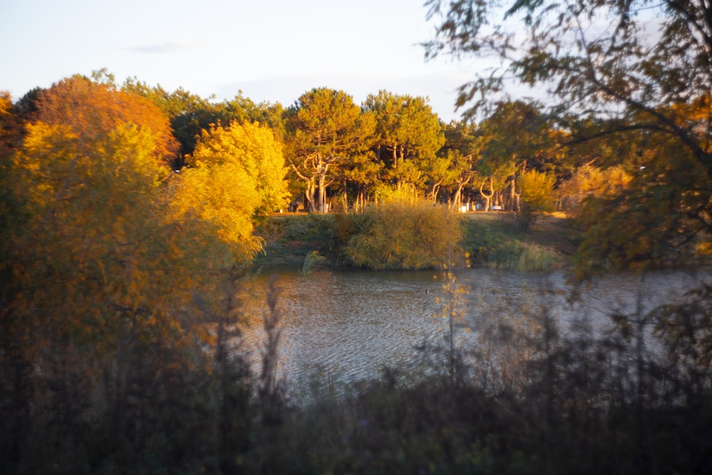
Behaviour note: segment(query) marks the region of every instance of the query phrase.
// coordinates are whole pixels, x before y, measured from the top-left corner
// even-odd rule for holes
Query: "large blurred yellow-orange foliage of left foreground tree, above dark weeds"
[[[174,310],[186,304],[177,293],[190,285],[176,281],[209,262],[225,265],[229,254],[209,235],[186,241],[196,227],[186,220],[168,221],[161,182],[169,170],[155,161],[149,132],[124,124],[92,153],[80,147],[69,127],[36,122],[18,155],[31,216],[26,276],[41,283],[32,305],[45,302],[52,323],[82,340],[112,335],[107,328],[124,318],[172,333],[182,325]]]

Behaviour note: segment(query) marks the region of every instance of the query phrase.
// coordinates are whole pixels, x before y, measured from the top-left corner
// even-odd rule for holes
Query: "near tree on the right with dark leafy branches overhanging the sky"
[[[426,56],[500,61],[500,68],[461,87],[457,104],[470,106],[466,114],[486,110],[519,83],[548,95],[545,115],[570,132],[568,142],[615,135],[619,143],[636,137],[645,145],[642,153],[654,149],[649,152],[655,164],[645,165],[643,173],[650,182],[639,174],[634,193],[606,204],[590,202],[585,211],[590,239],[581,266],[595,261],[592,249],[617,249],[609,260],[617,266],[660,261],[659,253],[669,247],[664,242],[679,249],[710,234],[709,187],[700,183],[701,177],[707,184],[712,178],[708,2],[516,0],[502,9],[498,1],[429,0],[427,5],[439,26]],[[651,168],[662,175],[651,174]],[[595,243],[606,236],[614,242]]]

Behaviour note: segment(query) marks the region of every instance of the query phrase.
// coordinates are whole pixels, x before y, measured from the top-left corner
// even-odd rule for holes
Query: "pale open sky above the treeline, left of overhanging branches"
[[[472,71],[425,61],[434,38],[424,0],[0,0],[0,90],[35,87],[106,68],[230,100],[292,105],[319,87],[360,104],[387,90],[429,98],[441,120],[459,119],[456,89]]]

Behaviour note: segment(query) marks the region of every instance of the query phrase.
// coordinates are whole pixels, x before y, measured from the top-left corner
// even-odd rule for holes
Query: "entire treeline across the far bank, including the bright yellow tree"
[[[76,115],[75,107],[94,112]],[[251,230],[247,218],[237,224],[242,212],[361,212],[394,196],[455,210],[494,206],[517,213],[523,230],[541,212],[564,210],[580,216],[582,277],[593,268],[669,266],[708,253],[711,192],[696,154],[703,149],[693,147],[705,141],[707,109],[703,95],[658,111],[689,131],[681,142],[618,120],[562,121],[531,102],[496,103],[479,122],[445,124],[426,98],[387,91],[357,105],[344,91],[317,88],[284,107],[242,95],[218,102],[136,79],[117,85],[98,71],[31,90],[15,104],[5,95],[4,143],[21,149],[26,125],[36,122],[98,120],[105,130],[111,121],[133,123],[155,136],[157,160],[182,174],[166,179],[182,207],[218,226],[232,221],[221,232],[241,241]],[[223,187],[239,189],[240,203],[219,197]]]

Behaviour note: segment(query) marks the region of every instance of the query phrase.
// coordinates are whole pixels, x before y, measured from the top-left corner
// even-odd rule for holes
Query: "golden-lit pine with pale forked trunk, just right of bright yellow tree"
[[[327,188],[339,177],[347,157],[369,147],[374,126],[372,115],[361,113],[352,97],[340,90],[310,90],[289,108],[288,157],[306,184],[311,211],[325,212]]]

